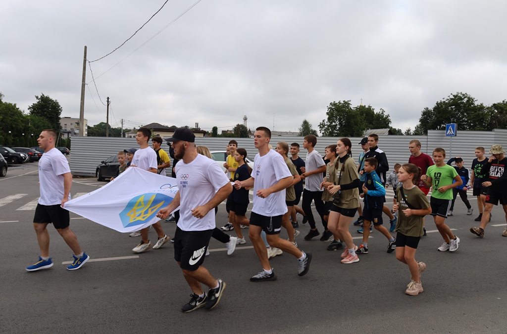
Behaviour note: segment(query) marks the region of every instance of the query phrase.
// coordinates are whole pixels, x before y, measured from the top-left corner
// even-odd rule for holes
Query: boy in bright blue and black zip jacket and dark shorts
[[[363,185],[363,198],[364,198],[364,209],[363,216],[365,218],[365,226],[363,233],[363,244],[359,246],[356,250],[356,253],[368,253],[368,237],[370,236],[370,225],[373,222],[373,227],[375,230],[382,233],[387,240],[389,240],[389,246],[387,247],[387,252],[392,253],[396,249],[396,239],[394,239],[389,231],[385,227],[382,226],[382,210],[384,208],[385,202],[385,189],[382,185],[382,181],[377,175],[375,169],[378,166],[377,159],[375,158],[366,158],[365,159],[365,174],[366,180]]]

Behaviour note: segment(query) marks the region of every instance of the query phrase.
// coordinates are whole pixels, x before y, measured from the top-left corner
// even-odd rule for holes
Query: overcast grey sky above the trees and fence
[[[318,130],[330,102],[362,98],[405,130],[451,93],[507,99],[504,1],[202,0],[161,31],[195,2],[169,0],[91,63],[114,127],[222,130],[246,115],[249,128],[298,131],[306,118]],[[78,118],[84,46],[104,56],[163,3],[4,0],[4,100],[28,112],[44,93]],[[89,66],[86,83],[85,118],[105,122]]]

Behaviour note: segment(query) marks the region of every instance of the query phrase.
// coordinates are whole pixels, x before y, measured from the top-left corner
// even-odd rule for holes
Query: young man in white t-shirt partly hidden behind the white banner
[[[135,151],[134,158],[132,158],[130,167],[137,167],[157,174],[157,153],[155,153],[155,151],[153,151],[153,149],[148,146],[148,141],[150,140],[151,136],[152,130],[148,128],[139,128],[137,130],[135,140],[139,144],[139,150]],[[149,250],[150,248],[158,249],[162,247],[167,241],[169,241],[169,237],[162,230],[160,221],[157,221],[152,226],[157,232],[157,242],[155,245],[152,245],[150,239],[148,239],[149,227],[141,229],[141,242],[132,248],[132,251],[134,253],[142,253]]]

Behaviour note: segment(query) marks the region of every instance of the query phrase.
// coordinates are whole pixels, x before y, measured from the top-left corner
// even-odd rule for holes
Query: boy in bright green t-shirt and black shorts
[[[431,190],[431,215],[435,220],[435,225],[444,238],[444,243],[438,248],[441,252],[449,250],[456,251],[459,247],[459,238],[452,233],[451,229],[445,224],[445,218],[451,207],[453,198],[452,188],[459,187],[463,184],[454,167],[445,163],[445,150],[437,147],[433,150],[433,161],[435,164],[429,166],[426,175],[421,175],[421,180],[426,187]],[[452,183],[452,180],[456,182]]]

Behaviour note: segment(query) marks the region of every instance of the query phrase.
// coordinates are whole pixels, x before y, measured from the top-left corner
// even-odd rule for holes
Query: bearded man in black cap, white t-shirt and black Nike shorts
[[[174,233],[174,259],[193,291],[182,312],[201,307],[210,310],[222,298],[226,284],[220,278],[213,278],[202,264],[215,228],[214,208],[229,196],[232,185],[214,160],[197,153],[192,131],[178,128],[167,140],[172,142],[174,157],[181,159],[175,167],[178,192],[157,216],[165,219],[180,207]],[[207,295],[201,284],[209,287]]]

